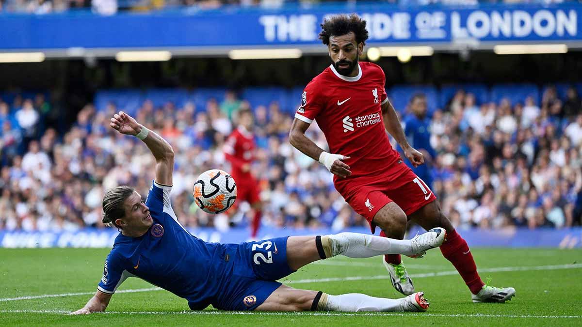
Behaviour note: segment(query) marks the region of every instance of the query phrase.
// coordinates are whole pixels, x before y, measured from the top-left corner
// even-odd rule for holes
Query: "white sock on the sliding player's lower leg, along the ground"
[[[327,304],[323,310],[328,311],[402,311],[402,298],[371,297],[365,294],[350,293],[342,295],[328,295]]]

